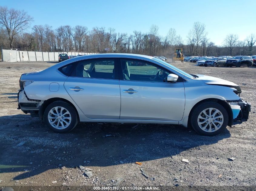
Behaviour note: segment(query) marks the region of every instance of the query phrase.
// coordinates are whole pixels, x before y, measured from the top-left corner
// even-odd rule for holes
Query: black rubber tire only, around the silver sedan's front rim
[[[223,124],[221,125],[221,127],[214,131],[214,132],[206,132],[204,130],[202,130],[199,125],[198,125],[198,116],[199,114],[207,109],[207,108],[215,108],[218,109],[222,115],[223,115]],[[224,131],[224,129],[226,129],[227,125],[228,125],[228,112],[227,110],[219,103],[213,102],[213,101],[206,101],[206,102],[202,102],[200,104],[198,104],[196,107],[194,107],[194,109],[191,111],[191,115],[189,117],[189,123],[191,124],[191,126],[193,127],[193,129],[198,132],[201,135],[206,135],[206,136],[213,136],[213,135],[218,135],[219,133],[221,133],[222,131]]]

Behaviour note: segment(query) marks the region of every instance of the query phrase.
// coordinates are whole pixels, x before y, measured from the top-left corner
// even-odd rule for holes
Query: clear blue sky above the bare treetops
[[[1,0],[1,6],[24,9],[34,17],[33,25],[112,27],[131,34],[133,30],[148,32],[152,24],[165,36],[169,28],[185,40],[194,22],[206,25],[208,38],[220,45],[228,33],[244,40],[256,34],[256,0],[92,0],[92,1],[20,1]]]

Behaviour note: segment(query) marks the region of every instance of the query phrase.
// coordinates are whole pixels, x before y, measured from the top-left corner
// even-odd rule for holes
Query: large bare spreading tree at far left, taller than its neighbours
[[[33,21],[33,18],[24,10],[19,11],[0,6],[0,25],[7,30],[10,48],[12,48],[14,37],[26,30],[31,21]]]

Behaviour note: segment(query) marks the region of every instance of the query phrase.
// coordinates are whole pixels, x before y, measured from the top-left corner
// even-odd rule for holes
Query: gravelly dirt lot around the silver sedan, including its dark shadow
[[[70,133],[54,133],[16,109],[20,75],[53,64],[0,62],[0,186],[106,186],[117,180],[119,186],[256,186],[255,67],[173,64],[191,74],[233,81],[241,86],[241,97],[252,103],[247,122],[205,137],[182,126],[121,123],[81,123]],[[25,144],[16,146],[20,142]],[[93,176],[84,176],[79,165],[90,168]]]

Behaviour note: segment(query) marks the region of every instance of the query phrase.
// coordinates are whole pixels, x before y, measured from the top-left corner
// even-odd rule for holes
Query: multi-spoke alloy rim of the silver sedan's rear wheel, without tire
[[[53,107],[48,113],[48,121],[55,129],[66,129],[71,123],[71,114],[64,107]]]

